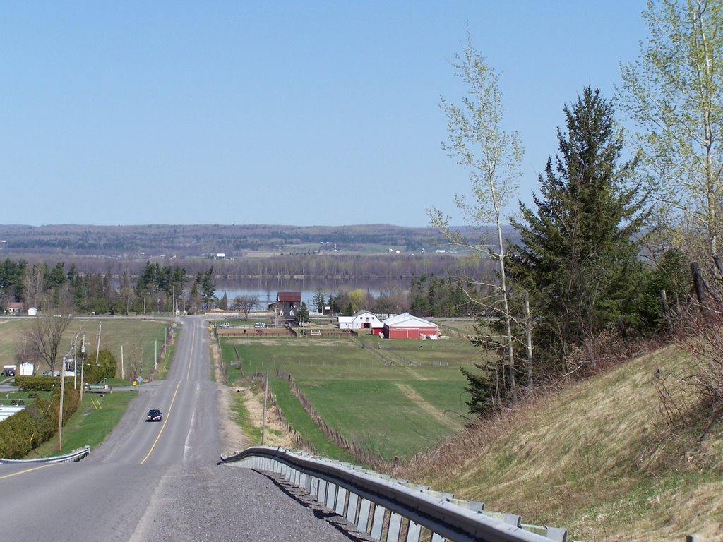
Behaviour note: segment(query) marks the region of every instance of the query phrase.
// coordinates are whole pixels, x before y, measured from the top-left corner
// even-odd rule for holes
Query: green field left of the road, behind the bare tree
[[[14,363],[16,345],[20,342],[23,332],[29,330],[33,324],[33,319],[27,318],[10,317],[0,319],[0,364]],[[102,327],[100,327],[100,324],[102,324]],[[153,319],[117,317],[101,320],[75,318],[70,322],[63,335],[58,362],[60,364],[64,355],[72,356],[73,341],[76,335],[78,337],[78,348],[80,348],[82,337],[85,337],[85,352],[95,352],[98,346],[98,329],[100,328],[100,349],[110,350],[116,357],[119,364],[116,376],[121,376],[122,346],[126,367],[130,358],[142,356],[142,376],[148,379],[153,370],[153,356],[156,345],[158,345],[158,353],[161,353],[167,324],[168,322]],[[44,370],[44,368],[41,368],[41,370]],[[114,381],[114,383],[121,384],[121,381]]]

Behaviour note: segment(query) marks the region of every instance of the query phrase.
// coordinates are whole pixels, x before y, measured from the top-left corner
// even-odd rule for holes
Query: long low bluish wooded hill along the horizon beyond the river
[[[262,254],[375,254],[445,248],[435,228],[389,224],[0,225],[0,257],[241,258]]]

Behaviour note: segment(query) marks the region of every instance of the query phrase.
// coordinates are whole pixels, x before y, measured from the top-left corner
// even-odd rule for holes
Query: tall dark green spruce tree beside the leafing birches
[[[633,316],[636,236],[649,211],[634,178],[638,157],[620,163],[612,103],[586,87],[564,111],[567,130],[557,129],[559,152],[539,175],[534,206],[521,203],[513,220],[522,242],[510,275],[530,292],[536,359],[569,373],[594,363],[596,333]]]

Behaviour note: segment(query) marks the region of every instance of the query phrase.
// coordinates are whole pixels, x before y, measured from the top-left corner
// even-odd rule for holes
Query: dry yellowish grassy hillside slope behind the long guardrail
[[[690,363],[674,346],[633,359],[396,474],[578,540],[723,540],[723,423],[671,429],[656,389]]]

